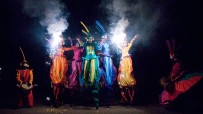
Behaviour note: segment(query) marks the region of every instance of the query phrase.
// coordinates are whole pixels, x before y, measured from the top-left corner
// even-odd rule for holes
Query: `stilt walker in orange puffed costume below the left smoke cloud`
[[[61,35],[61,42],[58,45],[56,54],[52,57],[52,66],[50,69],[50,78],[53,85],[53,95],[55,107],[59,106],[60,96],[63,94],[64,87],[68,86],[66,73],[68,70],[68,63],[65,55],[65,51],[70,51],[72,48],[63,47],[64,38]]]

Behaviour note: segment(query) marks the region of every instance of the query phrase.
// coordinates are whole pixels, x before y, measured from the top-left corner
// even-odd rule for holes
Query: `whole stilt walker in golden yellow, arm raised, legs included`
[[[137,38],[137,35],[127,43],[127,40],[123,42],[121,48],[121,61],[118,69],[118,85],[121,88],[121,102],[127,103],[128,97],[130,98],[130,103],[133,103],[134,100],[134,87],[136,80],[133,75],[132,59],[129,55],[129,50],[133,44],[133,41]]]

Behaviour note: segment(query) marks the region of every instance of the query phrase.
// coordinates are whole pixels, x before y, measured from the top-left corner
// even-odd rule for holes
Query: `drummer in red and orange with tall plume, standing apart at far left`
[[[18,87],[18,107],[22,107],[23,104],[27,107],[33,107],[34,98],[32,94],[33,88],[33,70],[30,69],[28,62],[25,59],[23,50],[19,47],[23,61],[20,63],[20,67],[17,69],[16,80]]]

